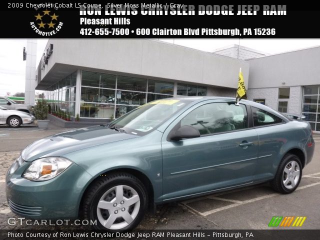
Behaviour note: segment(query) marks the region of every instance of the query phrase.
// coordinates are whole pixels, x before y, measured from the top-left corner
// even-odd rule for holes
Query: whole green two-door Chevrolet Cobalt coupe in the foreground
[[[308,122],[232,98],[149,102],[106,125],[24,148],[6,176],[12,211],[28,218],[135,227],[147,206],[270,181],[298,186],[314,150]]]

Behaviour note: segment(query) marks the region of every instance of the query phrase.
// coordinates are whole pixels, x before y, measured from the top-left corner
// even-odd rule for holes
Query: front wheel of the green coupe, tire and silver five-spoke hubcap
[[[145,187],[138,178],[124,172],[111,173],[89,186],[83,198],[83,217],[96,220],[95,229],[124,231],[142,220],[147,202]]]

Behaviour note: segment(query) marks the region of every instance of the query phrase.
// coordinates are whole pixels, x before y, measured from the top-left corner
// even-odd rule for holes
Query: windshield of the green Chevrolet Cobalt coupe
[[[109,127],[121,128],[130,134],[145,135],[190,102],[181,99],[151,101],[112,121]]]

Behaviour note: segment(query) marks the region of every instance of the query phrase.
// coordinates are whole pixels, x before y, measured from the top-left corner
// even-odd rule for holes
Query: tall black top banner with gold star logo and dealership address
[[[243,2],[242,2],[243,3]],[[273,2],[274,3],[274,2]],[[1,37],[316,38],[311,4],[1,2]]]

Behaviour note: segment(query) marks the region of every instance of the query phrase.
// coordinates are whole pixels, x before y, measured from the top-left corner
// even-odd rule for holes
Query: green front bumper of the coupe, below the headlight
[[[30,162],[24,162],[15,172],[6,175],[6,197],[10,209],[26,218],[77,217],[81,196],[91,175],[72,163],[50,180],[30,181],[21,176],[29,165]]]

